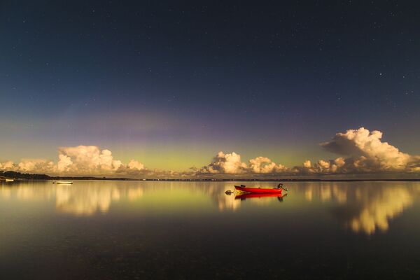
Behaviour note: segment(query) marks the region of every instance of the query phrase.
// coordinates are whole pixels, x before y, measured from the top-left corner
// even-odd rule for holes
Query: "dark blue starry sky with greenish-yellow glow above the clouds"
[[[419,50],[416,1],[1,1],[0,160],[297,165],[358,127],[419,154]]]

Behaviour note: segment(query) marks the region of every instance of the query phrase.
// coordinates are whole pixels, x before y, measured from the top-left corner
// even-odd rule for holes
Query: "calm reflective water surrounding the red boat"
[[[419,279],[420,182],[233,184],[0,183],[1,279]]]

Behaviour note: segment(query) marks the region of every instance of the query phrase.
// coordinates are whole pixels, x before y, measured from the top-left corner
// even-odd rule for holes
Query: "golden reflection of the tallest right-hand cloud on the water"
[[[377,230],[385,232],[389,221],[412,206],[413,195],[418,189],[402,186],[346,186],[338,183],[304,188],[304,198],[308,202],[336,202],[339,206],[332,214],[353,232],[372,235]]]

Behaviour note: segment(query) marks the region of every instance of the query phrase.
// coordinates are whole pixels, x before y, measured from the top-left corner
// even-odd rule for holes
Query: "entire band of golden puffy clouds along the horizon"
[[[147,169],[138,160],[127,164],[113,158],[111,151],[97,146],[60,147],[57,163],[48,160],[22,160],[18,164],[0,162],[1,170],[19,172],[86,175],[86,176],[133,176],[134,178],[169,178],[194,176],[317,176],[330,174],[420,174],[420,156],[403,153],[395,146],[381,141],[382,132],[370,132],[364,127],[335,134],[330,141],[321,144],[325,151],[337,153],[330,160],[285,167],[271,159],[259,156],[243,162],[241,155],[219,152],[209,165],[194,168],[190,172],[172,172]]]

